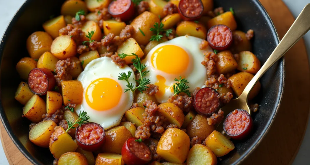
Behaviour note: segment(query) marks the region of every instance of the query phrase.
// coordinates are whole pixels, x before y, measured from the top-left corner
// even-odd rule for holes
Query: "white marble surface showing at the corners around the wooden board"
[[[310,3],[310,0],[283,0],[286,5],[292,11],[294,17],[296,18],[303,7]],[[0,36],[2,36],[4,30],[7,27],[7,24],[10,22],[13,17],[15,11],[21,6],[24,0],[0,0]],[[305,42],[307,46],[308,54],[310,55],[310,32],[308,32],[305,37]],[[303,165],[309,164],[309,155],[310,155],[310,122],[308,123],[308,128],[303,140],[303,143],[300,147],[300,150],[294,160],[293,165]],[[2,144],[0,143],[0,165],[8,165],[7,158],[5,157]]]

